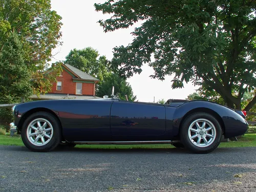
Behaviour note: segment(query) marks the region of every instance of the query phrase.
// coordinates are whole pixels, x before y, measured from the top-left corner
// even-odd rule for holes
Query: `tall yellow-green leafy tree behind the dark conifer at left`
[[[49,68],[47,62],[51,59],[52,50],[61,44],[60,19],[56,11],[51,10],[50,0],[2,0],[0,4],[0,54],[9,45],[7,41],[11,34],[16,33],[15,38],[19,39],[24,50],[24,63],[29,76],[33,77],[31,86],[35,86],[33,91],[36,94],[39,94],[37,91],[48,92],[52,86],[52,78],[46,78],[42,72]],[[5,54],[5,58],[11,59],[12,54]],[[59,68],[54,66],[51,70],[57,70],[51,74],[59,72]]]

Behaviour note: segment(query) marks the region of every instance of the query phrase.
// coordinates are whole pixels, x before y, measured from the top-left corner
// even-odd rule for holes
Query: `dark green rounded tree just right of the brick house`
[[[111,96],[113,86],[115,87],[115,95],[118,95],[121,100],[126,100],[125,95],[127,95],[130,101],[136,99],[130,84],[114,73],[109,73],[104,76],[103,81],[99,84],[98,89],[96,90],[96,95],[98,97],[103,97],[104,95]]]

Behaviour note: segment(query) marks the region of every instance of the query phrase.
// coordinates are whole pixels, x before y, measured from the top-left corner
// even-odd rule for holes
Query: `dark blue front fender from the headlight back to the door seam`
[[[15,109],[15,124],[27,111],[45,108],[57,115],[62,125],[63,137],[67,141],[111,141],[111,104],[111,100],[47,100],[22,103]]]

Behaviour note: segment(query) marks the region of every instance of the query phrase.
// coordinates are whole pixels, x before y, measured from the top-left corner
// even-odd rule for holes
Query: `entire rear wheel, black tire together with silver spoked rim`
[[[203,126],[203,123],[205,123],[205,126]],[[210,127],[212,129],[207,131]],[[198,131],[195,132],[195,130]],[[221,135],[222,129],[218,120],[214,116],[204,112],[189,115],[184,119],[180,128],[181,143],[188,150],[199,154],[214,151],[220,144]]]

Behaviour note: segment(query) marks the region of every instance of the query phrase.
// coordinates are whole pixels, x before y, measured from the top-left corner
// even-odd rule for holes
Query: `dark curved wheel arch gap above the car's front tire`
[[[23,123],[25,122],[25,120],[30,116],[32,115],[33,113],[36,113],[36,112],[47,112],[47,113],[50,113],[51,115],[53,115],[57,121],[59,122],[61,128],[62,128],[62,124],[59,120],[59,117],[52,111],[52,110],[49,110],[47,108],[34,108],[34,109],[31,109],[29,111],[27,111],[25,114],[23,114],[22,118],[19,120],[18,122],[18,131],[19,133],[22,131],[22,125]]]

